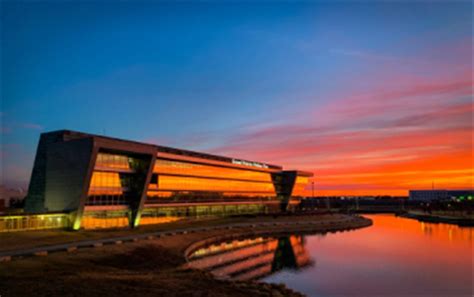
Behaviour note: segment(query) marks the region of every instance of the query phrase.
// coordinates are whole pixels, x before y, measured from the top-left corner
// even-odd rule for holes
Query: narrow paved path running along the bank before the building
[[[295,226],[295,225],[314,225],[314,226],[325,226],[332,225],[334,223],[347,223],[353,221],[354,218],[345,218],[338,220],[324,220],[324,221],[297,221],[297,222],[249,222],[249,223],[228,223],[222,224],[220,226],[210,226],[210,227],[188,227],[188,228],[178,228],[175,230],[167,231],[158,231],[158,232],[149,232],[142,234],[131,234],[127,236],[112,237],[112,238],[103,238],[103,239],[94,239],[94,240],[83,240],[75,241],[70,243],[39,246],[35,248],[21,249],[15,251],[4,251],[0,252],[0,262],[10,261],[12,258],[20,258],[25,256],[46,256],[48,253],[61,252],[61,251],[73,251],[80,248],[90,248],[98,247],[108,244],[122,244],[124,242],[134,242],[143,239],[154,239],[163,236],[172,236],[177,234],[186,234],[192,232],[202,232],[202,231],[212,231],[212,230],[222,230],[222,229],[231,229],[231,228],[252,228],[252,227],[275,227],[275,226]]]

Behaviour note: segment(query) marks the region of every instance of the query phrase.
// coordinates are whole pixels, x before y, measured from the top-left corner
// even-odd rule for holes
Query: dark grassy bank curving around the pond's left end
[[[367,218],[339,214],[280,217],[273,219],[271,225],[268,221],[252,222],[248,226],[181,232],[25,257],[0,263],[0,291],[6,296],[51,296],[58,292],[68,296],[125,292],[128,296],[304,296],[282,284],[218,279],[209,272],[188,267],[187,256],[191,250],[216,240],[338,232],[370,225],[372,221]]]

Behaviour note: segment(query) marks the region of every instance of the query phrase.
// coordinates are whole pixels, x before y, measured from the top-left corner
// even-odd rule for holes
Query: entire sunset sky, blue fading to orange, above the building
[[[470,1],[1,5],[2,184],[72,129],[312,171],[318,195],[473,187]]]

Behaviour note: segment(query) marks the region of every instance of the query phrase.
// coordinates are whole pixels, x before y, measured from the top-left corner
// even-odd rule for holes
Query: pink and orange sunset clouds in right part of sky
[[[465,53],[466,45],[456,46]],[[345,89],[347,95],[302,110],[288,124],[249,127],[211,151],[313,171],[325,191],[406,194],[431,178],[471,187],[472,71],[438,67],[424,68],[425,75],[397,68],[358,77],[372,80],[369,90]],[[370,177],[325,178],[359,173]]]

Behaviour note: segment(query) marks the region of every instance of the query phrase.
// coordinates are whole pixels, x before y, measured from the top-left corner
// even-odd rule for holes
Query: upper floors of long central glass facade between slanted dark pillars
[[[157,159],[147,201],[166,202],[166,198],[176,202],[275,198],[270,171],[235,167],[232,168],[232,163],[222,166]]]

